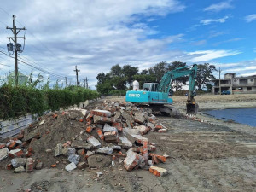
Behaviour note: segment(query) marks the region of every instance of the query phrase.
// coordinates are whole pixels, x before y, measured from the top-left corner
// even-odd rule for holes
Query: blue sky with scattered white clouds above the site
[[[77,65],[79,79],[88,77],[94,88],[96,75],[114,64],[142,70],[160,61],[208,62],[221,67],[222,76],[256,75],[255,9],[254,0],[1,0],[0,50],[6,52],[5,27],[16,15],[17,26],[27,28],[20,59],[54,73],[53,81],[74,83]],[[0,75],[13,70],[6,55],[0,64]]]

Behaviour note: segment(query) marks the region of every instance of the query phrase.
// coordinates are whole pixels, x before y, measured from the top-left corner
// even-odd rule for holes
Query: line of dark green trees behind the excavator
[[[99,73],[97,74],[97,85],[96,90],[102,95],[108,94],[125,94],[126,90],[131,89],[132,82],[137,80],[142,88],[144,83],[154,82],[160,83],[161,78],[168,71],[172,71],[178,67],[188,67],[187,63],[182,61],[172,61],[167,63],[162,61],[155,64],[149,69],[143,69],[139,72],[138,67],[133,67],[131,65],[124,65],[121,67],[116,64],[111,67],[109,73]],[[198,90],[207,88],[211,91],[212,84],[210,81],[215,79],[212,72],[217,71],[214,65],[209,63],[198,64],[197,75],[195,79],[195,85]],[[189,80],[189,76],[184,76],[173,81],[173,90],[182,90],[183,85],[185,85]]]

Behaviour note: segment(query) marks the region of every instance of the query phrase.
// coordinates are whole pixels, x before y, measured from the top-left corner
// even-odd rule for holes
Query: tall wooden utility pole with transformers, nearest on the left
[[[25,40],[25,37],[17,37],[18,33],[21,31],[21,30],[26,30],[25,27],[23,28],[17,28],[15,26],[15,15],[13,15],[13,27],[9,27],[9,26],[6,26],[6,29],[10,29],[12,30],[12,32],[14,33],[14,37],[8,37],[9,39],[12,39],[13,42],[15,43],[15,85],[18,86],[18,51],[19,52],[22,52],[20,47],[21,47],[21,44],[17,44],[17,38],[23,38]],[[13,50],[13,44],[8,44],[8,50]]]

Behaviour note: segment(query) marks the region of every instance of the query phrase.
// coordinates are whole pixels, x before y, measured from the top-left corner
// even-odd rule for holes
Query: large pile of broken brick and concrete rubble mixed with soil
[[[148,108],[130,102],[102,102],[96,108],[49,113],[7,143],[0,143],[0,160],[14,172],[42,167],[86,167],[123,163],[127,171],[148,169],[156,176],[167,171],[155,166],[167,155],[155,154],[156,143],[143,135],[165,132]],[[102,166],[100,165],[100,166]]]

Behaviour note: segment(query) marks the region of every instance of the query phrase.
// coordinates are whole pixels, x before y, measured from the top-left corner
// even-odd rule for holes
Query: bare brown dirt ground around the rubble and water
[[[112,98],[124,100],[123,97]],[[175,106],[183,111],[186,97],[174,97]],[[122,163],[99,169],[42,169],[14,174],[1,170],[0,191],[255,191],[256,128],[224,122],[205,116],[209,108],[256,107],[256,95],[196,96],[203,122],[159,116],[168,128],[166,133],[150,132],[156,154],[168,154],[166,177],[155,177],[147,170],[126,172]],[[246,103],[246,104],[245,104]],[[102,172],[97,177],[96,172]]]

